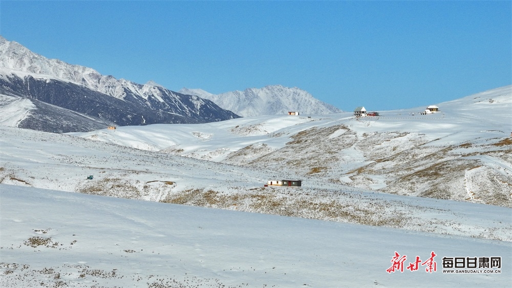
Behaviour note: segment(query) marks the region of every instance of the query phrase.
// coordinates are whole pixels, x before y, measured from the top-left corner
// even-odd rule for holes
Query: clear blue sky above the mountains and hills
[[[280,84],[342,110],[412,108],[512,83],[510,1],[0,1],[0,34],[144,84]]]

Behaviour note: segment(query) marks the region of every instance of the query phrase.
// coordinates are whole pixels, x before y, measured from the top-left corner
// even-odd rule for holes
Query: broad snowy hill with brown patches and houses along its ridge
[[[75,135],[373,191],[512,207],[511,90],[440,103],[430,115],[418,107],[380,117],[260,116]]]

